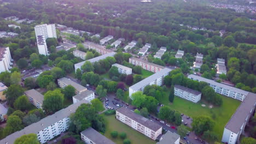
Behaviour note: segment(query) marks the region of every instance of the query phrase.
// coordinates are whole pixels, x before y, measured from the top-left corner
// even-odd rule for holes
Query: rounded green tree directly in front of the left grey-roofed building
[[[22,95],[18,99],[15,100],[14,108],[16,110],[21,110],[21,111],[24,111],[24,110],[27,110],[28,108],[30,108],[30,101],[28,101],[26,95]]]

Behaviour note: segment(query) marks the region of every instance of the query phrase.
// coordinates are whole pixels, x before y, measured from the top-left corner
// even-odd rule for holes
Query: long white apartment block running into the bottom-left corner
[[[66,131],[69,127],[69,116],[71,113],[74,113],[81,104],[88,103],[89,101],[82,100],[78,103],[69,105],[65,109],[55,112],[53,115],[45,117],[36,123],[28,125],[20,131],[10,134],[9,136],[0,140],[0,143],[12,144],[18,137],[27,134],[37,134],[37,139],[39,142],[45,143]]]

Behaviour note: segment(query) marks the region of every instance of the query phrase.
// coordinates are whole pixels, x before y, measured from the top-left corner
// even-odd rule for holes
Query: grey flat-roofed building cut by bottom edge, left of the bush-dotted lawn
[[[98,131],[91,127],[82,131],[80,134],[81,139],[86,144],[115,144],[113,141],[107,139],[107,137],[98,133]]]

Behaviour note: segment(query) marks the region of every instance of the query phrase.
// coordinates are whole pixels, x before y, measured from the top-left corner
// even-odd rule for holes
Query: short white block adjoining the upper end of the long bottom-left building
[[[75,104],[75,103],[77,103],[78,101],[81,101],[81,100],[91,101],[93,99],[95,99],[94,92],[90,91],[90,90],[86,90],[82,93],[79,93],[79,94],[73,96],[73,104]]]

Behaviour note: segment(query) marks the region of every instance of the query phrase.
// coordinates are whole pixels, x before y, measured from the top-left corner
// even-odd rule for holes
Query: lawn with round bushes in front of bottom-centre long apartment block
[[[151,140],[146,135],[143,135],[139,133],[138,131],[132,129],[128,125],[118,121],[115,119],[115,115],[106,116],[103,115],[106,120],[106,132],[105,136],[108,137],[108,139],[114,141],[117,144],[123,144],[123,140],[120,139],[120,137],[117,137],[116,139],[113,139],[110,135],[112,131],[118,131],[118,133],[124,132],[127,135],[127,139],[131,140],[131,143],[147,143],[147,144],[153,144],[156,143],[155,141]]]

